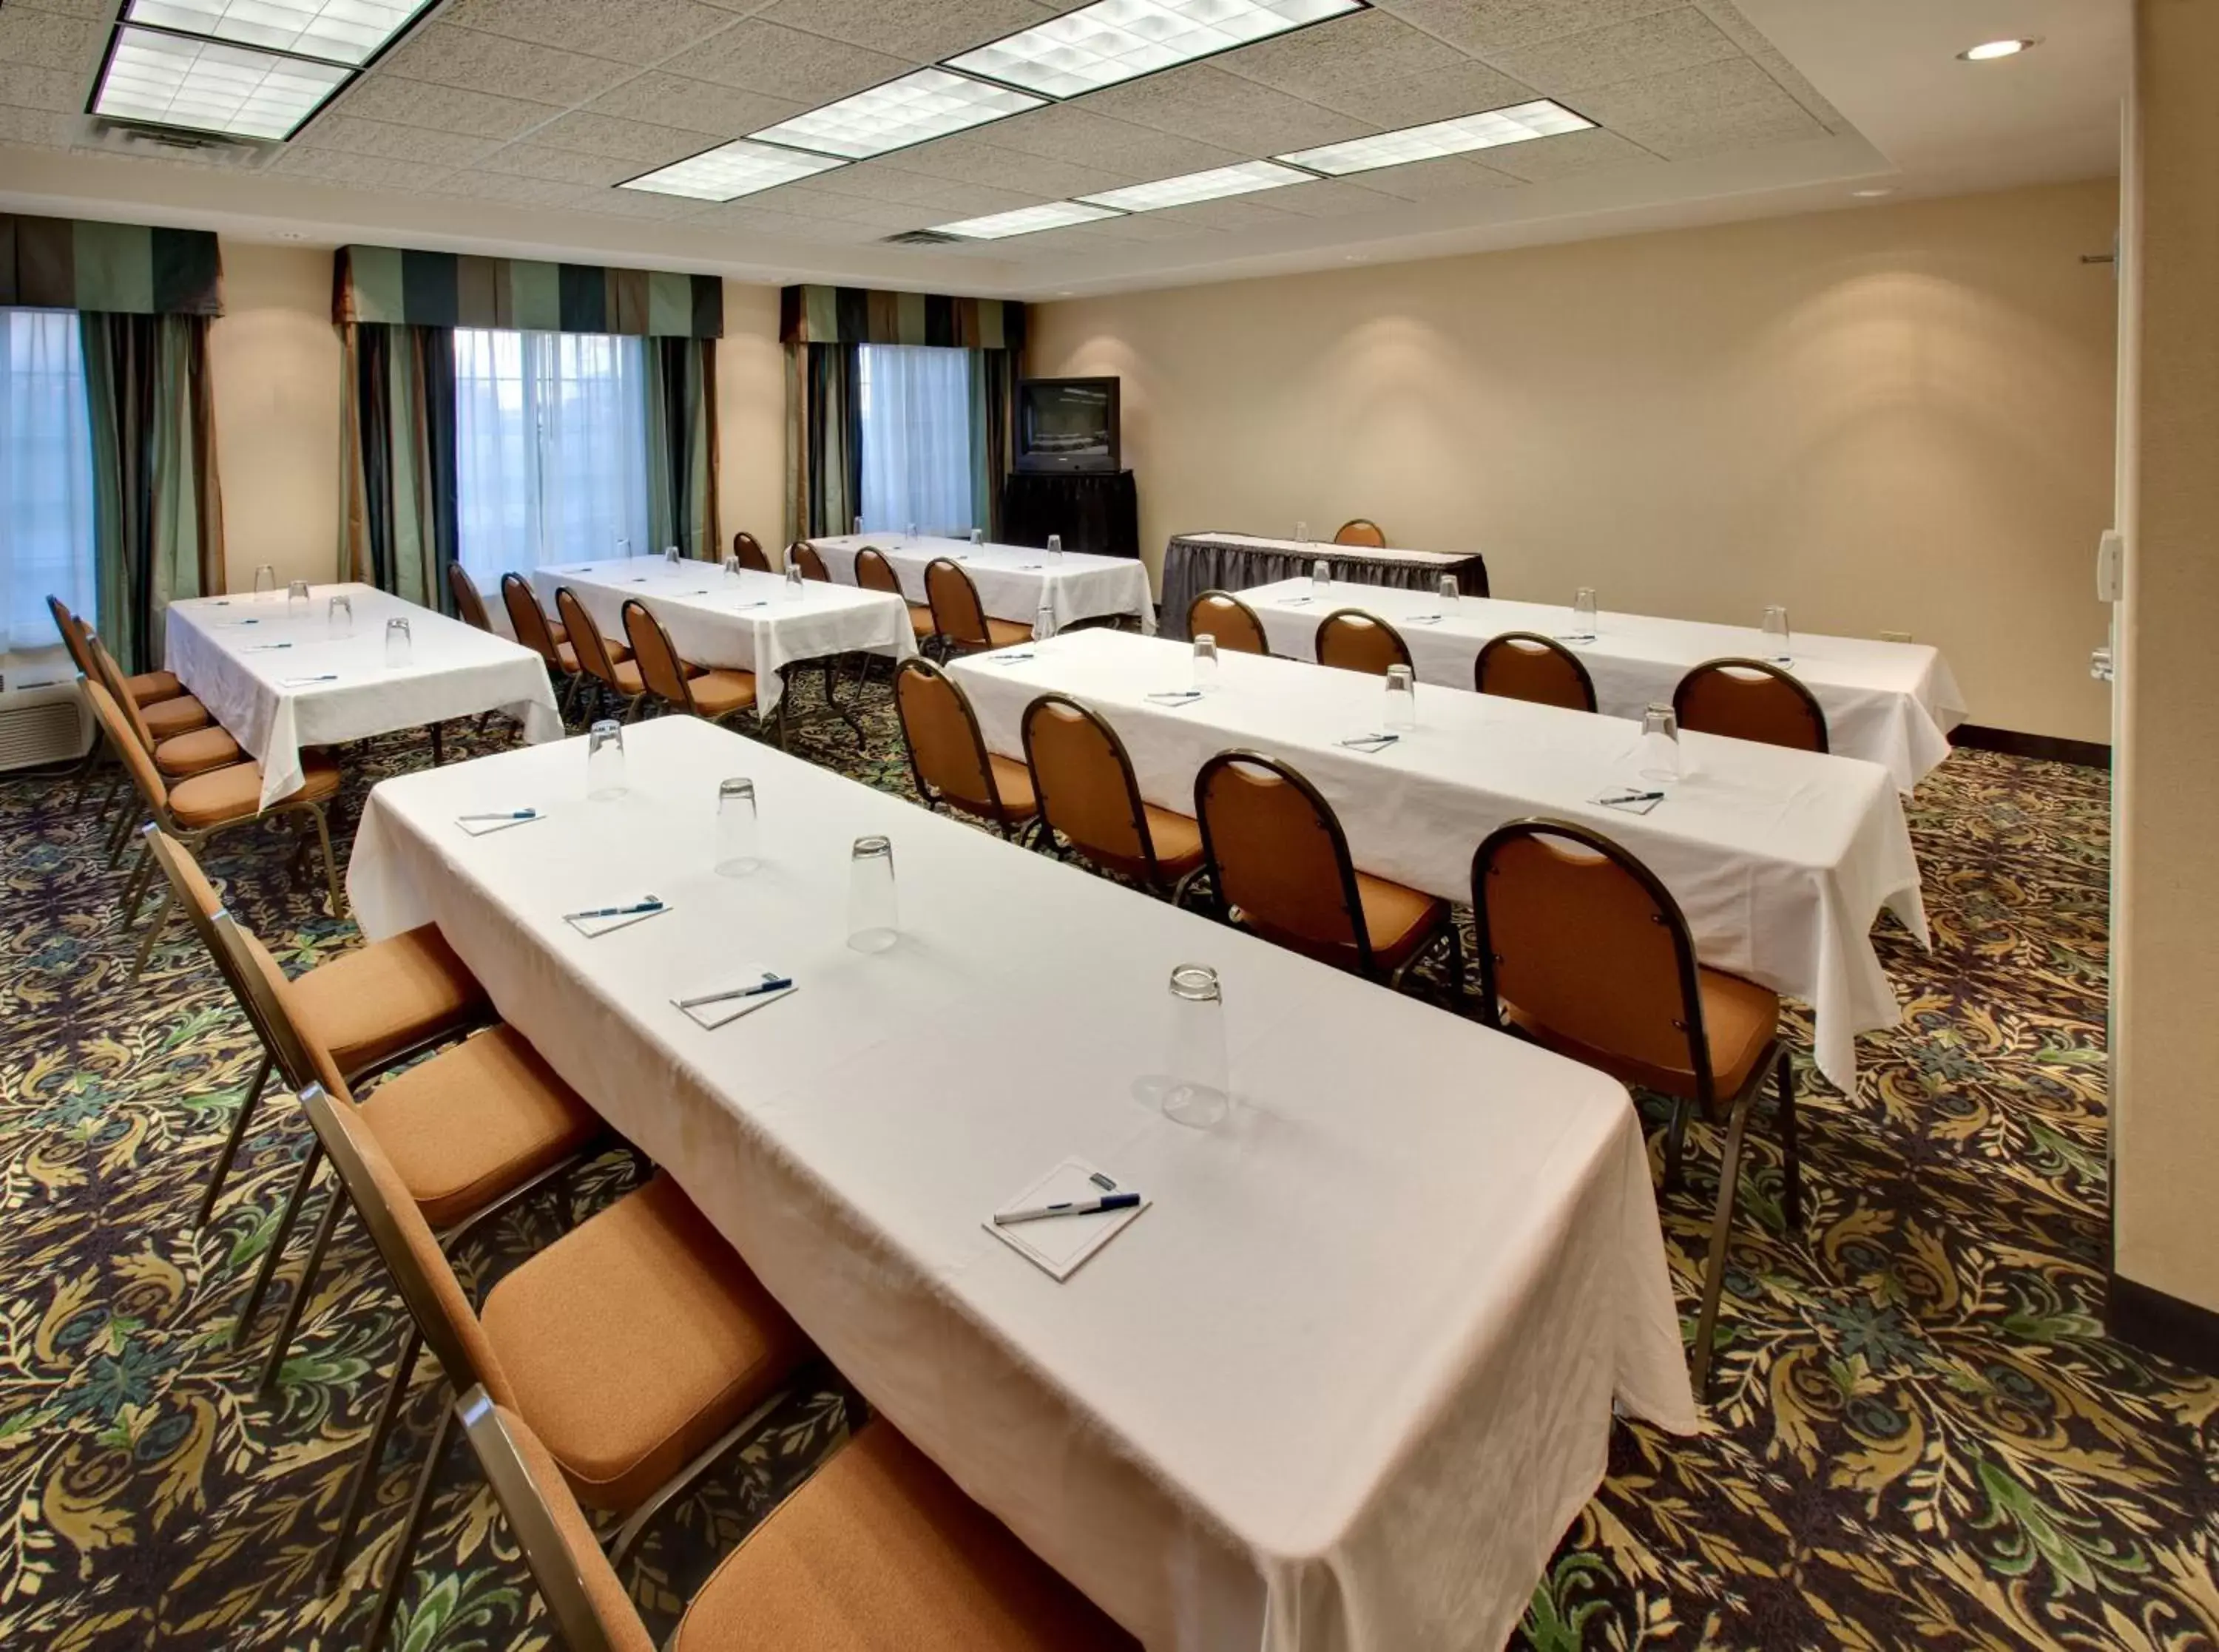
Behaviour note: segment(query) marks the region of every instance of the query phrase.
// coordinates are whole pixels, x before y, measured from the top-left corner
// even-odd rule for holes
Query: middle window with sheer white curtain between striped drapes
[[[455,328],[455,508],[479,590],[652,550],[644,341]]]

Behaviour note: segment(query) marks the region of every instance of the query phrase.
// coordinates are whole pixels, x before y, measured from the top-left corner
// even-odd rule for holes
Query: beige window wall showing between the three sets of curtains
[[[255,568],[331,579],[340,554],[340,335],[331,248],[224,242],[224,315],[209,333],[224,561],[235,590]],[[786,379],[779,290],[726,282],[717,346],[719,508],[730,541],[779,534]]]

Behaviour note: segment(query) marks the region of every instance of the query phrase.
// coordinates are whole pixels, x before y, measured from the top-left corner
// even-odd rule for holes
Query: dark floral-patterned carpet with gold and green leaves
[[[868,727],[863,756],[837,727],[797,749],[905,789],[883,690]],[[351,756],[342,829],[362,785],[424,761],[419,736]],[[1804,1075],[1797,1235],[1777,1228],[1780,1160],[1753,1131],[1718,1426],[1615,1430],[1516,1645],[2219,1648],[2219,1381],[2099,1324],[2106,809],[2104,774],[1979,752],[1919,789],[1935,949],[1882,931],[1908,1020],[1864,1040],[1855,1098]],[[240,834],[211,869],[286,965],[353,942],[288,883],[280,829]],[[229,1335],[306,1131],[268,1107],[193,1231],[255,1051],[184,929],[131,985],[118,885],[91,803],[0,783],[0,1645],[353,1648],[439,1404],[430,1362],[348,1583],[320,1594],[402,1308],[342,1226],[277,1393],[255,1397],[260,1339],[233,1353]],[[1689,1313],[1715,1155],[1698,1131],[1664,1204]],[[606,1160],[508,1217],[464,1257],[475,1284],[630,1175]],[[628,1574],[652,1628],[854,1404],[830,1379],[799,1393],[659,1523]],[[466,1452],[402,1628],[408,1652],[546,1645]]]

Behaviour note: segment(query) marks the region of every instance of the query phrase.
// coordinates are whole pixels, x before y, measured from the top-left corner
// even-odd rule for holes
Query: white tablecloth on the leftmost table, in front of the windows
[[[333,596],[353,630],[333,636]],[[386,621],[408,621],[408,663],[386,665]],[[277,647],[288,643],[288,647]],[[311,585],[295,616],[275,596],[193,596],[166,610],[162,663],[262,763],[262,807],[302,781],[304,745],[340,745],[479,712],[506,712],[526,741],[561,734],[546,663],[528,647],[373,585]],[[286,687],[286,679],[337,674]]]

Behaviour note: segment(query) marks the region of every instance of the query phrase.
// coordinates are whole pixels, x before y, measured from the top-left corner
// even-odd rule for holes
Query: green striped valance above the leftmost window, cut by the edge
[[[213,231],[0,213],[0,306],[222,315]]]

